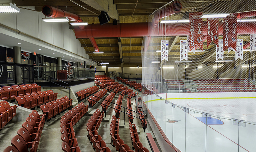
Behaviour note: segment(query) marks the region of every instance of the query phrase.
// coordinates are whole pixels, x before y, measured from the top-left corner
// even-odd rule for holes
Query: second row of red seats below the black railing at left
[[[52,90],[43,91],[43,92],[34,92],[31,94],[25,94],[23,96],[15,97],[19,106],[24,108],[35,108],[36,106],[40,106],[44,103],[47,103],[52,100],[57,99],[57,94]]]

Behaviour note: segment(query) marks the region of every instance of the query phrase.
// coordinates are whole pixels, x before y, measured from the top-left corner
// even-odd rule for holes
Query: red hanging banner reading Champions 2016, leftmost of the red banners
[[[202,41],[202,13],[189,13],[189,49],[193,51],[196,46],[203,51],[203,41]],[[193,51],[194,52],[194,51]],[[196,53],[196,52],[194,52]]]

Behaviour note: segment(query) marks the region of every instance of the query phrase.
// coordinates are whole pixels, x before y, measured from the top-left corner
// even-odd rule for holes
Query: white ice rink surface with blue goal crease
[[[256,151],[254,98],[168,100],[176,106],[159,98],[146,105],[181,152]]]

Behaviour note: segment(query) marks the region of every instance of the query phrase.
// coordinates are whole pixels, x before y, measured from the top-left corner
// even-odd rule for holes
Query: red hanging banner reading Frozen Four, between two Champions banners
[[[219,47],[219,19],[207,18],[207,47],[213,41],[216,44],[216,48]]]

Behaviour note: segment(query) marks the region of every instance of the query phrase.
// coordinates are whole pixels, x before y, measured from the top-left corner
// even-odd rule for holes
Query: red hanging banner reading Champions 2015
[[[230,14],[223,19],[223,50],[229,47],[231,50],[236,51],[236,27],[237,27],[237,14]],[[228,53],[230,49],[228,49]]]

